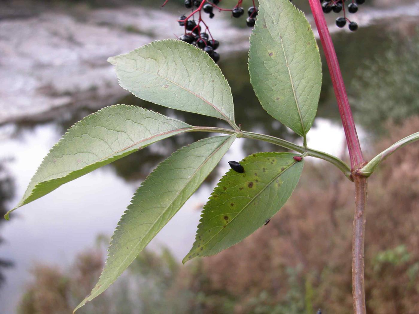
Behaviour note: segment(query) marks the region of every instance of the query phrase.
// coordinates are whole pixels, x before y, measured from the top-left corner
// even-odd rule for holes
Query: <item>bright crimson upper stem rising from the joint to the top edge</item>
[[[360,141],[358,139],[355,122],[352,111],[349,106],[348,96],[340,71],[338,59],[327,28],[323,10],[318,0],[308,0],[311,11],[313,12],[314,21],[316,22],[317,31],[320,36],[321,45],[323,46],[326,61],[329,67],[333,88],[335,90],[336,100],[339,107],[343,128],[345,131],[346,141],[348,144],[349,158],[351,160],[351,168],[354,171],[363,161]]]

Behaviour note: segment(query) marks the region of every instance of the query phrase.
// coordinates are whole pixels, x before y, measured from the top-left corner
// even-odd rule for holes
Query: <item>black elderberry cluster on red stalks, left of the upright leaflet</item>
[[[163,5],[167,2],[168,0]],[[244,14],[244,9],[241,7],[242,2],[243,0],[238,0],[237,5],[233,9],[228,10],[217,6],[220,0],[185,0],[185,8],[190,9],[191,13],[179,17],[178,23],[184,27],[184,34],[178,38],[181,41],[185,41],[204,50],[217,62],[220,60],[220,54],[215,50],[220,43],[212,37],[207,24],[202,19],[202,12],[207,13],[209,18],[213,18],[215,16],[214,10],[218,10],[219,12],[230,11],[233,18],[240,18]],[[254,0],[252,2],[253,6],[247,10],[248,18],[246,18],[246,25],[248,27],[255,26],[256,16],[258,15],[258,9],[255,6]],[[197,15],[198,19],[195,19],[195,15]]]

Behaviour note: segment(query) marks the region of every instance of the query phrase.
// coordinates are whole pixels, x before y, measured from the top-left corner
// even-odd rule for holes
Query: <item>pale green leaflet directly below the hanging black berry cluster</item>
[[[183,41],[154,41],[108,59],[119,84],[161,106],[227,121],[235,129],[233,96],[209,55]]]

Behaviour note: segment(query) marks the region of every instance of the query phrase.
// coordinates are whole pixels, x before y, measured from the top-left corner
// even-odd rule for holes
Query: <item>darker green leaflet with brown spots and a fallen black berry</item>
[[[250,155],[221,178],[202,211],[195,243],[183,263],[235,245],[262,226],[285,204],[300,179],[304,161],[291,153]]]

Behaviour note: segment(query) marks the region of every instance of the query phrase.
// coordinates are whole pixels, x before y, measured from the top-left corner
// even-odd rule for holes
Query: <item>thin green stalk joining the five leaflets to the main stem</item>
[[[191,129],[191,131],[195,131],[195,132],[199,132],[199,131],[204,131],[204,132],[217,132],[217,133],[222,133],[222,134],[235,134],[237,133],[237,131],[235,130],[231,130],[231,129],[223,129],[223,128],[214,128],[214,127],[206,127],[206,126],[195,126],[194,129]],[[311,157],[316,157],[319,159],[323,159],[326,160],[328,162],[330,162],[331,164],[335,165],[339,170],[341,170],[341,172],[343,172],[343,174],[352,181],[352,176],[351,176],[351,169],[349,168],[349,166],[343,162],[342,160],[340,160],[338,157],[335,157],[333,155],[327,154],[325,152],[321,152],[315,149],[311,149],[311,148],[304,148],[303,146],[294,144],[292,142],[288,142],[285,141],[285,139],[279,139],[275,136],[270,136],[270,135],[265,135],[265,134],[259,134],[259,133],[253,133],[253,132],[246,132],[246,131],[241,131],[241,134],[243,137],[246,137],[248,139],[257,139],[260,141],[264,141],[264,142],[268,142],[268,143],[272,143],[287,149],[291,149],[295,152],[299,152],[299,153],[307,153],[308,156]],[[241,136],[238,136],[241,137]]]

